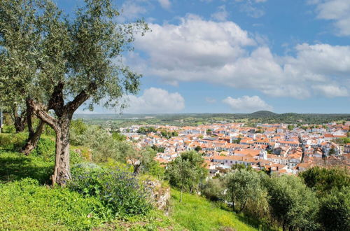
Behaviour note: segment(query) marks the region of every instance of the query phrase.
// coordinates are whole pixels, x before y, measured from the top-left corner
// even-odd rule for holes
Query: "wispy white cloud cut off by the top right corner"
[[[309,3],[316,4],[318,19],[334,21],[339,36],[350,36],[349,0],[313,0]]]

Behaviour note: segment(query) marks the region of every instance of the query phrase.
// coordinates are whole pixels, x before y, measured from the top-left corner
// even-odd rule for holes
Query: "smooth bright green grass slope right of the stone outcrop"
[[[197,195],[183,193],[180,202],[180,192],[172,189],[171,204],[171,217],[188,230],[269,230]]]

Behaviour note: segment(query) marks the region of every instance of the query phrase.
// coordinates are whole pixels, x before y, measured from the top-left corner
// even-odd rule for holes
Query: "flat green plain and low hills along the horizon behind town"
[[[277,114],[271,111],[255,113],[186,113],[186,114],[76,114],[86,123],[118,129],[132,125],[174,125],[196,126],[212,123],[290,123],[290,124],[323,124],[337,121],[349,121],[350,114]]]

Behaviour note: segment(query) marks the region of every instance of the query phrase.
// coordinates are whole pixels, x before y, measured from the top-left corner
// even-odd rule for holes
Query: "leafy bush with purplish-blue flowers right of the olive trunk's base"
[[[68,187],[85,197],[98,197],[118,217],[146,214],[152,209],[146,189],[130,173],[97,165],[72,167]]]

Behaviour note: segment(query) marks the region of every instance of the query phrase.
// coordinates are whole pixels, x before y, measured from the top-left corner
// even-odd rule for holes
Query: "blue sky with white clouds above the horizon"
[[[70,13],[80,3],[57,0]],[[349,0],[116,4],[120,23],[152,29],[125,54],[144,74],[125,113],[350,113]]]

